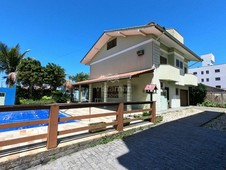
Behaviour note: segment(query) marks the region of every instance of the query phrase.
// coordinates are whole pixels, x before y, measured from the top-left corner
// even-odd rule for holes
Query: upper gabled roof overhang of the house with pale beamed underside
[[[127,37],[127,36],[147,36],[147,35],[155,35],[156,40],[161,43],[167,45],[170,48],[175,48],[185,54],[186,59],[192,61],[201,61],[201,58],[191,51],[188,47],[178,41],[175,37],[173,37],[170,33],[168,33],[164,27],[159,26],[155,23],[150,23],[148,25],[140,26],[140,27],[131,27],[124,28],[118,30],[110,30],[105,31],[100,38],[96,41],[93,47],[89,50],[89,52],[85,55],[85,57],[81,60],[83,64],[89,64],[93,57],[98,53],[98,51],[108,42],[108,40],[112,37]]]

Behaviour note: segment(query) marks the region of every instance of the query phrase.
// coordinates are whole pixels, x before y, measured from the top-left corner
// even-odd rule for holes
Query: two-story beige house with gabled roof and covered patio
[[[89,102],[156,101],[157,111],[189,105],[188,90],[197,77],[188,62],[201,61],[175,29],[151,22],[105,31],[81,60],[90,66]],[[146,93],[145,88],[153,93]],[[80,100],[81,100],[80,93]],[[150,96],[151,95],[151,96]]]

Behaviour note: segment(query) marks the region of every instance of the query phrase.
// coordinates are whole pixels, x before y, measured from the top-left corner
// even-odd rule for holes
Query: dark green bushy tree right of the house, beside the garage
[[[192,87],[189,91],[190,93],[190,103],[192,105],[201,104],[206,98],[206,86],[202,83],[199,83],[198,86]]]

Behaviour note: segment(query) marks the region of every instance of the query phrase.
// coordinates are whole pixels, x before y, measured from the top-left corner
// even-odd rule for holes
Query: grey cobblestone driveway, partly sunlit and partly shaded
[[[206,111],[31,169],[226,169],[226,132],[200,127]]]

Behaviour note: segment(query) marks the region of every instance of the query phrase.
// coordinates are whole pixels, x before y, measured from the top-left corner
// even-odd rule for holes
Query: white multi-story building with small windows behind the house
[[[191,68],[189,73],[198,78],[198,83],[207,86],[226,89],[226,64],[214,65],[215,57],[213,54],[202,55],[202,67]]]

